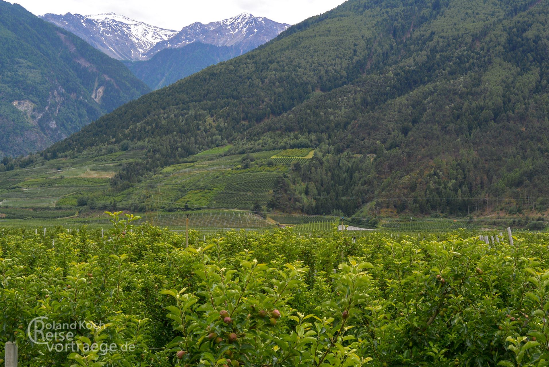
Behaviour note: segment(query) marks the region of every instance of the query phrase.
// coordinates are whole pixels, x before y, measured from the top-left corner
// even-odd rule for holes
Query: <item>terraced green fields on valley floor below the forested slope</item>
[[[64,157],[49,161],[36,162],[26,168],[14,171],[0,172],[0,213],[3,209],[40,209],[48,212],[48,225],[74,225],[90,222],[90,213],[104,210],[126,210],[131,212],[167,212],[190,208],[216,210],[242,210],[268,213],[269,225],[286,224],[302,225],[315,222],[304,232],[315,232],[330,229],[327,223],[337,223],[337,216],[294,215],[292,213],[329,213],[324,207],[331,207],[333,202],[345,200],[330,200],[323,202],[322,208],[318,199],[307,197],[306,185],[300,184],[300,177],[315,173],[316,163],[312,162],[312,149],[266,150],[244,154],[231,154],[234,147],[219,147],[188,157],[185,162],[164,167],[150,174],[139,174],[131,178],[132,182],[116,185],[117,177],[132,177],[131,170],[139,167],[143,150],[117,151],[111,154],[93,155],[89,157]],[[234,149],[236,150],[236,149]],[[319,153],[320,154],[320,153]],[[250,161],[245,163],[245,161]],[[301,166],[290,166],[298,161]],[[316,161],[316,159],[315,159]],[[339,162],[326,160],[334,164],[333,170],[339,167]],[[129,168],[128,168],[129,167]],[[300,168],[301,167],[301,168]],[[130,170],[130,171],[128,171]],[[298,170],[299,172],[296,172]],[[118,176],[117,176],[118,175]],[[123,180],[120,180],[120,182]],[[328,180],[329,181],[329,180]],[[322,180],[321,180],[322,182]],[[285,184],[287,187],[283,188]],[[277,186],[278,185],[278,186]],[[276,190],[279,190],[275,193]],[[283,190],[283,191],[281,191]],[[316,190],[311,189],[311,190]],[[314,191],[309,191],[309,195]],[[294,197],[294,204],[280,202],[287,195]],[[314,194],[312,194],[314,195]],[[315,202],[316,201],[316,202]],[[347,206],[356,205],[357,200],[347,200]],[[65,219],[65,212],[79,212],[75,218]],[[366,213],[361,214],[367,216]],[[71,214],[72,217],[72,214]],[[1,225],[11,227],[29,225],[24,217],[5,218]],[[28,216],[28,218],[33,218]],[[55,222],[55,218],[59,219]],[[1,218],[0,218],[1,219]],[[485,218],[486,219],[486,218]],[[28,219],[32,220],[32,219]],[[14,222],[15,221],[15,222]],[[326,222],[326,223],[324,223]],[[363,221],[362,221],[363,222]],[[222,222],[220,222],[222,223]],[[229,221],[232,225],[221,224],[220,228],[242,225],[249,228],[245,221]],[[357,223],[361,223],[358,220]],[[398,218],[379,218],[372,223],[357,227],[378,228],[391,232],[443,232],[458,228],[530,228],[542,229],[547,225],[543,217],[518,217],[490,220],[484,219],[446,219],[418,218],[411,221]],[[253,227],[253,226],[252,226]],[[171,227],[177,229],[176,226]],[[209,227],[212,228],[212,227]],[[259,225],[258,228],[264,228]]]

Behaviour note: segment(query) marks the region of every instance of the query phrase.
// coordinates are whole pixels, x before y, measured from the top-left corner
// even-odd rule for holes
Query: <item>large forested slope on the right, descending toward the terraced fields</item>
[[[548,20],[548,0],[351,0],[43,155],[139,144],[156,170],[227,143],[316,148],[271,202],[308,213],[459,214],[472,198],[534,200],[549,194]]]

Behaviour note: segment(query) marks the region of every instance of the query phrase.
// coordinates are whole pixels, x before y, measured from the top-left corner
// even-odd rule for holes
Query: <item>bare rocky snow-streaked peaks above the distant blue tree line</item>
[[[165,48],[180,48],[193,42],[234,46],[243,53],[270,41],[290,26],[250,13],[208,24],[194,22],[179,32],[116,13],[45,14],[40,18],[75,33],[110,57],[132,61],[146,60]]]

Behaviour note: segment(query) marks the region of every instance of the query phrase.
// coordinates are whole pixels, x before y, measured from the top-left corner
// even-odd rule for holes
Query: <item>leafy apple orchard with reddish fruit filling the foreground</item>
[[[184,233],[121,214],[0,231],[0,344],[18,345],[19,365],[516,366],[520,353],[539,366],[547,353],[547,233],[494,245],[468,230],[216,233],[211,212],[192,213],[206,232],[186,247]],[[36,318],[87,326],[31,343]]]

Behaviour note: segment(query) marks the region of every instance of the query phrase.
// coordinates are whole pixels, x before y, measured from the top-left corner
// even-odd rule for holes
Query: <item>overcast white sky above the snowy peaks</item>
[[[181,30],[195,21],[208,23],[240,13],[296,24],[344,0],[8,0],[35,15],[113,12],[166,29]]]

